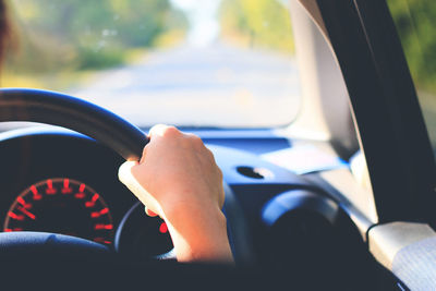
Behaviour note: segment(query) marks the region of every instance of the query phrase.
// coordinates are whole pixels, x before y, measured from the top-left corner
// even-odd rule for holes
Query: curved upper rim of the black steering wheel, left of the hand
[[[119,116],[56,92],[0,89],[0,122],[29,121],[63,126],[107,145],[126,160],[140,160],[147,136]]]

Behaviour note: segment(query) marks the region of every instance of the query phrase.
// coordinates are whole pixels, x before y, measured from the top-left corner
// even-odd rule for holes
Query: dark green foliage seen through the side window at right
[[[436,1],[388,0],[419,89],[436,94]]]

